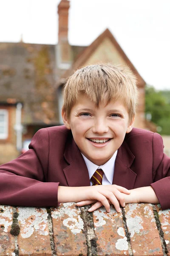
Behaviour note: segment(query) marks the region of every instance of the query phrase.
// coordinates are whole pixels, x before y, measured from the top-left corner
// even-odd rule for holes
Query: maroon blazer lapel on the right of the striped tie
[[[130,169],[130,166],[132,165],[134,158],[135,157],[130,151],[127,143],[124,141],[117,152],[113,184],[123,186],[127,189],[133,189],[136,173]]]

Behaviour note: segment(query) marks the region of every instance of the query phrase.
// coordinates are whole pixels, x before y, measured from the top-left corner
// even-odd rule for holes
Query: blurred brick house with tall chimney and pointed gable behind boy
[[[0,43],[0,164],[17,157],[22,142],[40,128],[62,124],[63,85],[74,70],[88,64],[130,67],[139,88],[135,126],[149,128],[144,118],[145,81],[108,29],[88,47],[70,45],[69,6],[68,0],[58,5],[57,45]]]

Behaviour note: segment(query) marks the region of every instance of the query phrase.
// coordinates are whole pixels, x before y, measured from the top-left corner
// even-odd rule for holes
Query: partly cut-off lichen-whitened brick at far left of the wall
[[[14,236],[10,234],[12,207],[0,206],[0,256],[12,255],[15,250]]]

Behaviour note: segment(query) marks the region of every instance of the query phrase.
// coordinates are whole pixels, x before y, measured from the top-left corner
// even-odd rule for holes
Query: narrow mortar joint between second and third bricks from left
[[[50,246],[51,246],[51,256],[57,256],[57,251],[55,248],[55,242],[54,242],[54,233],[53,233],[53,222],[51,217],[51,208],[46,208],[48,217],[48,230],[49,230],[49,236],[50,236]]]

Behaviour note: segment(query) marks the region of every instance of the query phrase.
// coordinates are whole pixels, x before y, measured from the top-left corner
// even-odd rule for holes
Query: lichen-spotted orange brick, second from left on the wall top
[[[17,207],[20,256],[51,256],[48,213],[45,208]]]

